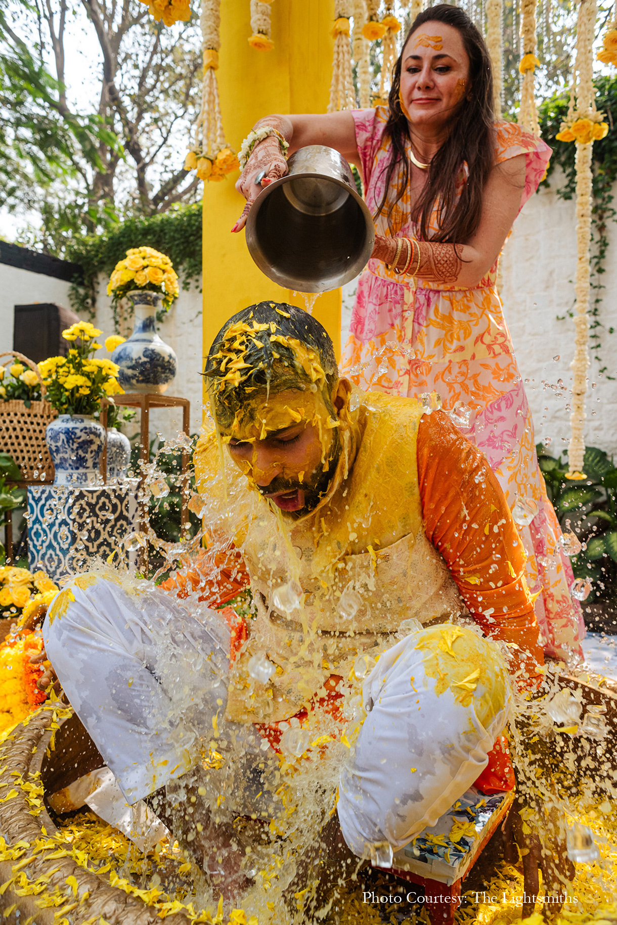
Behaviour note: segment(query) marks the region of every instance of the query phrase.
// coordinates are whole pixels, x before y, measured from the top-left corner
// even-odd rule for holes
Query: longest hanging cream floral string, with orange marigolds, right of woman
[[[587,340],[589,337],[589,242],[591,240],[591,199],[592,174],[591,155],[594,135],[593,127],[596,114],[595,90],[593,85],[593,42],[596,24],[596,0],[581,0],[578,7],[576,26],[576,62],[572,91],[570,93],[570,111],[568,121],[571,132],[576,139],[576,277],[574,292],[576,296],[576,315],[574,317],[574,360],[572,386],[572,427],[568,449],[569,471],[567,478],[585,478],[583,460],[585,457],[584,423],[585,395],[587,390],[587,368],[589,355]],[[574,95],[576,109],[574,110]],[[573,132],[577,122],[586,121],[589,130],[586,137],[578,137]],[[561,132],[560,134],[563,134]],[[559,137],[559,136],[558,136]]]

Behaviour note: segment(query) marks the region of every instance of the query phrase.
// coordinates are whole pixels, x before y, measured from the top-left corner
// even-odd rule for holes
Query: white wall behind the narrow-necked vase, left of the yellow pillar
[[[96,299],[94,324],[103,331],[101,339],[114,333],[111,298],[106,294],[107,281],[107,277],[99,277],[99,294]],[[167,393],[191,401],[191,433],[199,433],[202,426],[202,376],[200,374],[204,370],[201,279],[188,291],[180,289],[178,299],[172,305],[163,323],[158,326],[158,333],[178,355],[178,375],[167,388]],[[105,351],[97,353],[97,356],[101,357],[108,355]],[[181,426],[181,409],[160,408],[150,413],[151,439],[156,433],[167,438],[176,436]],[[131,431],[132,425],[129,425],[127,433],[130,434]]]

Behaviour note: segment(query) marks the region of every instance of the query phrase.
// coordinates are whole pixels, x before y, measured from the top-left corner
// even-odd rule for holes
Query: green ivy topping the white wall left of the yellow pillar
[[[111,276],[117,262],[134,247],[153,247],[167,254],[182,279],[182,289],[188,290],[202,272],[202,206],[176,205],[162,215],[129,218],[105,234],[71,240],[66,258],[83,267],[85,283],[71,287],[76,312],[93,317],[98,274]]]

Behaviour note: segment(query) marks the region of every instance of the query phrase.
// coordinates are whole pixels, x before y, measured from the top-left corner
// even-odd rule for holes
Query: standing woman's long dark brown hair
[[[392,156],[386,174],[386,191],[376,212],[382,214],[388,205],[390,231],[392,212],[401,200],[409,183],[409,160],[405,142],[409,141],[409,125],[401,110],[399,90],[401,87],[401,66],[405,46],[413,32],[426,22],[443,22],[458,29],[464,49],[469,56],[469,78],[471,88],[463,97],[450,120],[450,130],[445,142],[433,156],[426,186],[413,205],[412,220],[419,226],[421,240],[444,241],[465,244],[480,224],[482,195],[488,174],[494,162],[494,113],[493,73],[487,46],[474,23],[458,6],[439,4],[418,14],[407,34],[392,75],[389,93],[389,119],[386,124]],[[456,203],[456,180],[463,161],[469,166],[469,177],[463,193]],[[389,187],[398,165],[401,165],[396,198],[389,201]],[[429,222],[435,204],[438,203],[438,233],[430,237]]]

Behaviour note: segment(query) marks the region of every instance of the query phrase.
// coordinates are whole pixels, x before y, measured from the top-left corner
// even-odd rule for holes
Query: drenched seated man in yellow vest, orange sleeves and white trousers
[[[491,752],[509,674],[533,687],[543,661],[523,544],[448,415],[353,390],[301,309],[234,315],[205,375],[200,573],[76,577],[48,658],[129,802],[158,791],[215,882],[255,876],[236,822],[284,835],[301,810],[281,784],[302,790],[301,771],[326,795],[317,832],[338,794],[333,850],[342,833],[387,866],[474,782],[512,788]],[[246,620],[211,609],[249,585]]]

